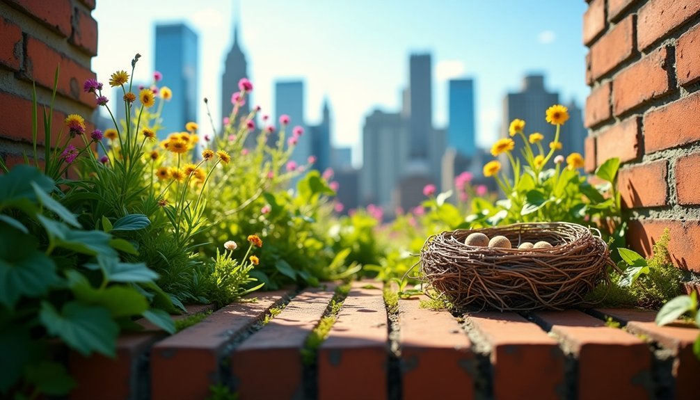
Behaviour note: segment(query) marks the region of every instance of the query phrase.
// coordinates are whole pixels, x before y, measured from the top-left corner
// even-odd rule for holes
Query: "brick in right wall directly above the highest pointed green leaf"
[[[612,125],[597,138],[596,159],[601,165],[606,159],[618,157],[629,162],[640,156],[639,131],[642,118],[638,115]]]

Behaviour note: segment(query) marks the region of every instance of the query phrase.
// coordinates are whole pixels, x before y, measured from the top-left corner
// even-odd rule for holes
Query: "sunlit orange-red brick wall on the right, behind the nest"
[[[586,169],[619,157],[632,248],[700,272],[700,1],[589,0]]]

